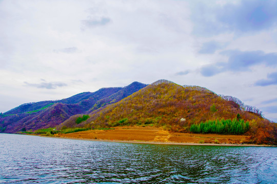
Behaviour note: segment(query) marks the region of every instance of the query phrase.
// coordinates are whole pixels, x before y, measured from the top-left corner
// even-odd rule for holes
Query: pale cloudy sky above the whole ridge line
[[[167,79],[277,121],[277,1],[0,0],[0,112]]]

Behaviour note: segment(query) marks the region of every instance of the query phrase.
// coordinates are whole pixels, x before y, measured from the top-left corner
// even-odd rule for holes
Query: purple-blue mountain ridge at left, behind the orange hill
[[[84,92],[57,101],[22,104],[0,114],[0,132],[16,133],[55,127],[74,114],[89,113],[112,104],[147,86],[133,82],[125,87],[101,88],[94,93]]]

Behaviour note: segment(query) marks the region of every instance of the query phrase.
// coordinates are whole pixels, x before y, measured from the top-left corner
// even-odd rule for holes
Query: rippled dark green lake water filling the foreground
[[[277,183],[277,148],[0,134],[0,183]]]

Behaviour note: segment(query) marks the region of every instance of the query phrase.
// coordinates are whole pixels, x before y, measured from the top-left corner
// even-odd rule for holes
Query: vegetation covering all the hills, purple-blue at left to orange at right
[[[204,87],[181,86],[166,80],[144,86],[134,82],[126,87],[102,88],[60,101],[19,106],[2,114],[1,127],[7,127],[5,132],[26,128],[53,134],[151,125],[173,132],[247,134],[251,136],[251,143],[277,144],[276,124],[239,99],[216,95]],[[56,127],[56,130],[42,131],[47,127]]]

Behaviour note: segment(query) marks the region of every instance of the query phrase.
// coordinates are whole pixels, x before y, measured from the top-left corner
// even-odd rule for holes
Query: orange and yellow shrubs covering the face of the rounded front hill
[[[207,91],[187,89],[167,82],[155,82],[124,100],[90,114],[87,125],[118,126],[127,124],[167,125],[170,131],[189,131],[192,124],[207,120],[233,119],[242,113],[228,101]],[[181,121],[181,119],[183,121]]]

